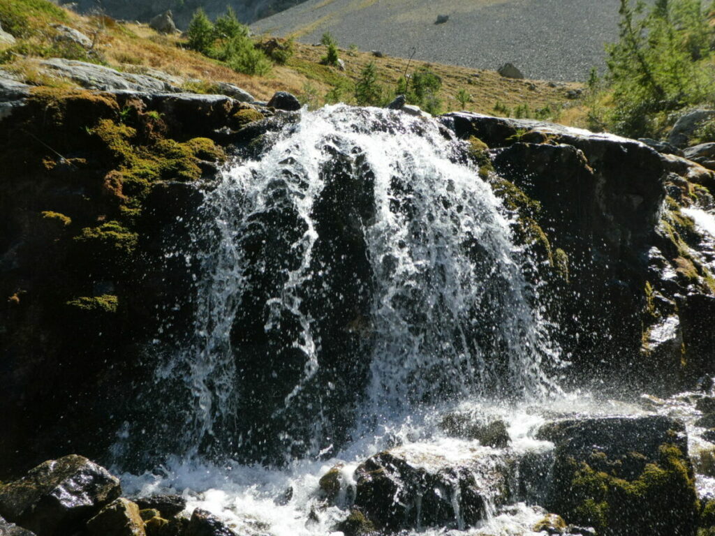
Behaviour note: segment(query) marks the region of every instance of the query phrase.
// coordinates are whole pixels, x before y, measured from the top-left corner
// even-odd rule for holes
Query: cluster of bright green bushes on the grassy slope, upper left
[[[256,46],[248,26],[238,21],[230,7],[215,23],[199,8],[189,23],[187,39],[190,49],[222,61],[234,71],[260,76],[271,71],[270,59]]]

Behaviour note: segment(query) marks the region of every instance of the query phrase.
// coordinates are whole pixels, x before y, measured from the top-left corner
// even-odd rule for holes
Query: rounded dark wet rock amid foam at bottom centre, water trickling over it
[[[485,515],[488,500],[508,493],[503,457],[463,452],[455,459],[437,450],[407,447],[380,452],[355,470],[355,506],[380,529],[465,526]]]

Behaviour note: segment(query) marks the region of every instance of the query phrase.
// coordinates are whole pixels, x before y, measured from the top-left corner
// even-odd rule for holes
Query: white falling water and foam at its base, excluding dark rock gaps
[[[206,197],[211,230],[197,229],[197,238],[208,246],[194,253],[202,267],[196,333],[176,362],[160,372],[164,377],[171,371],[185,375],[187,422],[184,430],[173,432],[182,436],[181,445],[154,471],[159,476],[125,475],[125,490],[182,492],[189,507],[221,514],[241,534],[326,534],[345,511],[340,505],[323,508],[317,521],[310,512],[317,504],[319,477],[336,462],[342,462],[349,482],[360,460],[390,445],[428,445],[446,457],[458,457],[479,446],[440,435],[434,425],[438,408],[558,392],[546,372],[559,366],[558,349],[538,308],[538,289],[526,283],[522,271],[530,262],[528,253],[513,244],[508,215],[478,169],[460,163],[460,143],[432,121],[395,111],[332,106],[304,111],[298,124],[275,135],[260,159],[237,162],[225,172]],[[319,371],[320,340],[303,302],[307,284],[320,278],[313,257],[320,239],[313,210],[325,187],[321,170],[335,152],[359,152],[373,177],[375,215],[362,229],[373,274],[365,327],[370,332],[370,373],[354,440],[340,447],[330,443],[316,400],[304,459],[281,469],[204,462],[199,445],[240,419],[236,401],[250,388],[242,384],[231,343],[236,314],[247,305],[242,291],[249,284],[239,244],[255,215],[272,206],[276,184],[287,193],[283,202],[300,224],[290,246],[295,262],[285,268],[282,287],[264,304],[270,311],[267,333],[280,330],[287,317],[298,326],[290,346],[302,356],[302,372],[282,412],[290,412]],[[475,339],[476,332],[483,339]],[[546,448],[518,432],[519,423],[531,422],[533,416],[500,412],[510,423],[512,448]],[[332,460],[315,461],[321,452],[335,451]],[[288,489],[290,500],[281,501]],[[513,533],[522,534],[543,512],[517,504],[506,520],[491,513],[485,523],[495,527],[494,533],[518,529]]]

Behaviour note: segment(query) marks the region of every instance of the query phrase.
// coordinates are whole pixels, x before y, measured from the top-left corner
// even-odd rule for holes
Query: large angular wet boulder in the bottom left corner
[[[0,515],[38,536],[63,534],[119,497],[119,480],[87,458],[49,460],[0,487]]]

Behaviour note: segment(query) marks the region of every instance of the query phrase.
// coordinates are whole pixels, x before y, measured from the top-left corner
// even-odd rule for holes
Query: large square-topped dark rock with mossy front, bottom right
[[[698,500],[684,432],[660,416],[546,425],[540,437],[556,444],[547,507],[598,534],[694,535]]]

